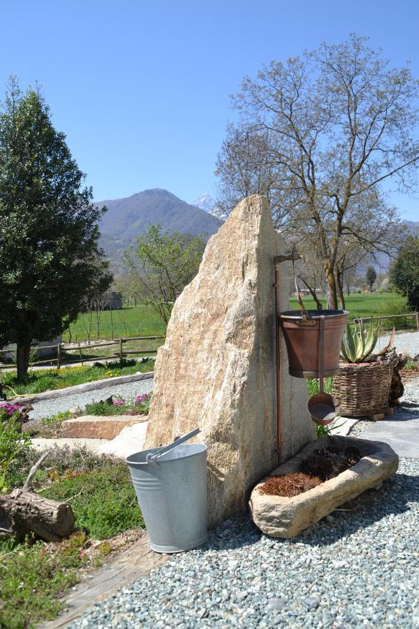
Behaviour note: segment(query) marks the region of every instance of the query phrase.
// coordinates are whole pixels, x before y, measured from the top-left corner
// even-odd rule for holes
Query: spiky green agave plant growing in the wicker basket
[[[388,352],[395,340],[395,328],[393,327],[390,341],[383,349],[376,354],[372,354],[374,347],[376,346],[378,336],[381,331],[381,319],[378,321],[376,327],[371,319],[371,323],[368,328],[364,327],[362,321],[348,324],[346,331],[344,332],[344,338],[341,345],[341,357],[346,363],[365,363],[367,359],[378,358],[383,356],[385,352]]]

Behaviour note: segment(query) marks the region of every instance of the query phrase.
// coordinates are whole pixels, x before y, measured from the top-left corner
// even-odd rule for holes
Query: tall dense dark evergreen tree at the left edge
[[[61,334],[84,294],[112,276],[98,250],[98,220],[84,173],[36,89],[11,78],[0,111],[0,346],[17,343],[18,374],[32,340]]]

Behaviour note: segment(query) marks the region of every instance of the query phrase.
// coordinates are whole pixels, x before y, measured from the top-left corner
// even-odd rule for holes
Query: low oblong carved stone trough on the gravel
[[[333,436],[321,437],[310,443],[297,456],[273,470],[270,476],[300,472],[301,463],[307,456],[328,445],[339,449],[355,446],[361,451],[362,458],[337,477],[292,498],[260,493],[267,477],[261,480],[251,493],[249,506],[253,522],[263,533],[271,537],[294,537],[348,500],[389,478],[399,467],[399,457],[388,444]]]

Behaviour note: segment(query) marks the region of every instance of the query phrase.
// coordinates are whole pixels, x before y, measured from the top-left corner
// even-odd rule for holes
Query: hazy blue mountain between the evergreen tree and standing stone
[[[106,205],[108,211],[101,219],[101,247],[116,273],[123,269],[122,257],[135,238],[147,231],[150,224],[159,223],[163,231],[180,231],[192,236],[210,238],[222,222],[205,210],[189,205],[168,190],[153,188],[126,198],[95,201]]]

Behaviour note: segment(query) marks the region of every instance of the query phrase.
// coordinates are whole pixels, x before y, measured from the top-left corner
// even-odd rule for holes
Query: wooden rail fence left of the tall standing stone
[[[122,337],[116,338],[112,341],[106,341],[102,343],[85,343],[84,345],[74,345],[73,343],[70,345],[68,343],[58,343],[57,345],[43,345],[42,347],[31,347],[31,350],[34,352],[44,351],[45,349],[56,350],[57,358],[54,359],[41,359],[39,361],[34,361],[29,363],[29,366],[33,367],[35,365],[47,365],[51,363],[57,363],[57,368],[59,369],[63,363],[63,352],[78,352],[80,354],[80,359],[73,359],[71,357],[71,363],[85,363],[87,361],[95,360],[103,360],[110,359],[113,357],[119,357],[120,360],[124,358],[124,356],[128,356],[128,354],[152,354],[156,352],[156,347],[148,348],[148,349],[125,349],[124,343],[128,343],[131,341],[144,341],[144,340],[159,340],[162,338],[166,338],[165,335],[161,336],[131,336],[131,337]],[[103,356],[93,356],[89,358],[83,358],[82,353],[85,349],[94,349],[95,347],[111,347],[112,345],[117,345],[117,352],[113,352],[112,354],[105,354]],[[9,354],[10,352],[15,352],[13,349],[1,349],[0,356],[3,354]],[[67,361],[68,362],[68,361]],[[4,367],[16,367],[15,363],[7,363]]]

